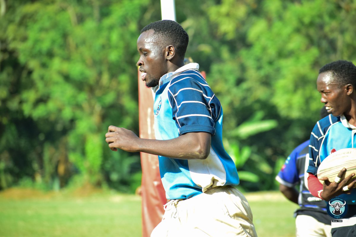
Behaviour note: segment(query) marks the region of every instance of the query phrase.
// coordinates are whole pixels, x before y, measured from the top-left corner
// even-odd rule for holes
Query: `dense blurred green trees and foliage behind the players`
[[[176,0],[241,188],[275,188],[309,138],[319,68],[356,62],[355,15],[352,0]],[[160,19],[159,0],[0,0],[0,189],[140,185],[139,154],[111,152],[105,133],[138,133],[136,40]]]

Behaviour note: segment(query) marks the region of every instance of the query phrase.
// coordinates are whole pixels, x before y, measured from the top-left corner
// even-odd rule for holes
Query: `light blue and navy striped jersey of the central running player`
[[[158,156],[167,199],[188,199],[209,188],[239,184],[236,166],[223,147],[223,109],[198,69],[196,63],[184,65],[163,75],[153,88],[156,139],[191,132],[212,135],[205,160]]]

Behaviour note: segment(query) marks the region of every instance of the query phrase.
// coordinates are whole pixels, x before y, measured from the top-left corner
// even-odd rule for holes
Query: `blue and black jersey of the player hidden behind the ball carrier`
[[[276,176],[276,180],[289,188],[299,185],[299,208],[294,212],[295,215],[312,216],[316,220],[330,225],[331,219],[326,213],[325,201],[314,197],[304,182],[305,171],[309,162],[308,157],[309,140],[297,146],[292,153],[290,153]]]

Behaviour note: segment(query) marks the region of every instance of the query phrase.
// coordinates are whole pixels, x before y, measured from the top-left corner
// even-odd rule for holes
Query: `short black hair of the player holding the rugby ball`
[[[329,71],[333,74],[334,80],[336,80],[340,87],[347,84],[356,87],[356,66],[352,62],[338,60],[325,64],[319,70],[319,74]]]

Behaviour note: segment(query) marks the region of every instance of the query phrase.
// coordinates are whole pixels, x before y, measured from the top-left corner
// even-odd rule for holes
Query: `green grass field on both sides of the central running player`
[[[293,211],[279,192],[246,193],[260,237],[295,236]],[[141,198],[108,192],[0,192],[1,237],[141,236]]]

